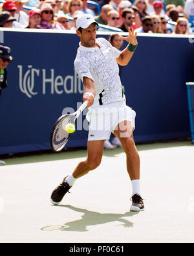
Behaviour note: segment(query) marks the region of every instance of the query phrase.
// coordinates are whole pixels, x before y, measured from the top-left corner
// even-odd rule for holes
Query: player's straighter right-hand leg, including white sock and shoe
[[[127,172],[133,187],[131,211],[143,211],[144,203],[140,196],[140,157],[133,139],[133,126],[131,122],[120,122],[114,130],[114,135],[122,143],[127,158]]]

